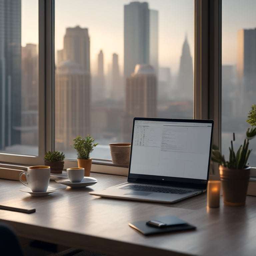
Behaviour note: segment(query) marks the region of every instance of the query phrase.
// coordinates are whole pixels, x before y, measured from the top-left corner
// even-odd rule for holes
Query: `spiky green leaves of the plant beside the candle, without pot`
[[[256,126],[256,104],[251,106],[252,110],[248,113],[248,122],[251,126]],[[247,167],[247,161],[252,149],[248,149],[249,140],[254,138],[256,135],[256,127],[248,128],[246,131],[246,139],[244,144],[239,147],[237,153],[235,153],[233,148],[233,141],[235,141],[235,133],[233,133],[233,141],[231,140],[231,147],[229,147],[229,161],[225,160],[224,155],[221,155],[219,148],[216,145],[212,146],[212,161],[217,162],[224,167],[230,169],[244,169]]]

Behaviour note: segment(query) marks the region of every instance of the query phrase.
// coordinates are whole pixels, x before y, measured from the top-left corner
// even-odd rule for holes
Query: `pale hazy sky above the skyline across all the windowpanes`
[[[123,20],[127,0],[56,0],[55,49],[63,48],[67,27],[80,25],[88,28],[91,65],[94,69],[97,55],[104,53],[104,72],[112,54],[119,55],[123,71]],[[178,70],[182,44],[187,34],[194,61],[194,1],[149,0],[149,8],[159,14],[159,65]],[[38,3],[22,0],[22,45],[38,43]],[[236,35],[239,29],[256,27],[255,0],[222,0],[222,59],[223,64],[236,62]]]

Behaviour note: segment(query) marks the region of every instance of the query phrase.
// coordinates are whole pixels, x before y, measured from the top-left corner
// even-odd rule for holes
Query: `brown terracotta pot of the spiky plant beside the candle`
[[[245,205],[251,167],[229,169],[219,166],[224,205]]]

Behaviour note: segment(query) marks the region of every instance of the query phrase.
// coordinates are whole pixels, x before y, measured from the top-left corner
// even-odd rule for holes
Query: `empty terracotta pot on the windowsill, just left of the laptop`
[[[109,147],[113,164],[129,165],[131,143],[110,143]]]

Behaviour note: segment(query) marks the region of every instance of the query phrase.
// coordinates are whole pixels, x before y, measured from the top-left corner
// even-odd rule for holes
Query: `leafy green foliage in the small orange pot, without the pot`
[[[89,134],[85,138],[78,136],[73,141],[75,142],[73,145],[74,149],[77,151],[78,159],[89,159],[90,153],[93,151],[93,147],[98,145],[98,143],[92,144],[94,139]]]

